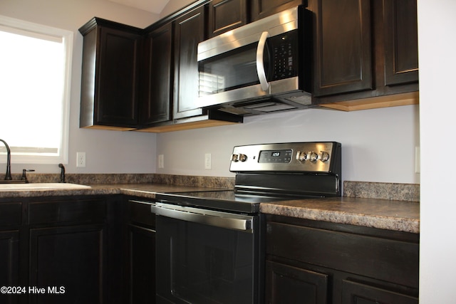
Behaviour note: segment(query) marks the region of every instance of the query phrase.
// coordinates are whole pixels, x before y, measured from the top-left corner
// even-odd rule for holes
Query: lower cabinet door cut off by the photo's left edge
[[[19,286],[19,231],[0,231],[0,286]],[[0,303],[18,303],[18,297],[24,296],[2,290]]]

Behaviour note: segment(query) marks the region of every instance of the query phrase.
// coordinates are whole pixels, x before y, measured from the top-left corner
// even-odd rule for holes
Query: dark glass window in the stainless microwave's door
[[[257,46],[258,43],[252,43],[199,61],[199,96],[259,84]],[[266,44],[263,59],[266,73],[269,65],[268,58]]]

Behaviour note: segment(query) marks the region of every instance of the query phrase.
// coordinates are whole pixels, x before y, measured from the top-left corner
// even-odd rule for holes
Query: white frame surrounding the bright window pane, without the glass
[[[61,125],[61,143],[58,147],[57,154],[21,154],[14,152],[11,148],[11,163],[13,164],[68,164],[68,137],[70,128],[70,100],[71,100],[71,65],[73,63],[73,32],[66,31],[61,28],[54,28],[51,26],[44,26],[38,23],[32,23],[19,19],[10,18],[0,15],[0,29],[9,31],[11,33],[33,33],[33,36],[39,38],[40,35],[54,36],[62,40],[63,48],[65,50],[65,81],[63,83],[63,97],[62,97],[62,125]],[[18,117],[20,121],[20,117]],[[1,138],[1,133],[0,133]],[[6,140],[4,138],[1,138]],[[7,142],[7,140],[6,140]],[[6,149],[3,143],[0,142],[0,153],[6,154]]]

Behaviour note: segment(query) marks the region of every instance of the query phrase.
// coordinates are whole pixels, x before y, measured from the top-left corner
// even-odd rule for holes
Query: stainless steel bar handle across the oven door
[[[150,208],[152,213],[171,219],[180,219],[182,221],[250,233],[253,233],[254,230],[254,216],[162,203],[157,203],[155,206],[152,205]]]

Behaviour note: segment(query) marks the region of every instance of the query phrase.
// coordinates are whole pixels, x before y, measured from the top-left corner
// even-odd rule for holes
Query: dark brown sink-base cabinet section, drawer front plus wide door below
[[[63,196],[27,204],[28,303],[106,303],[107,198]],[[24,262],[24,261],[21,261]]]

